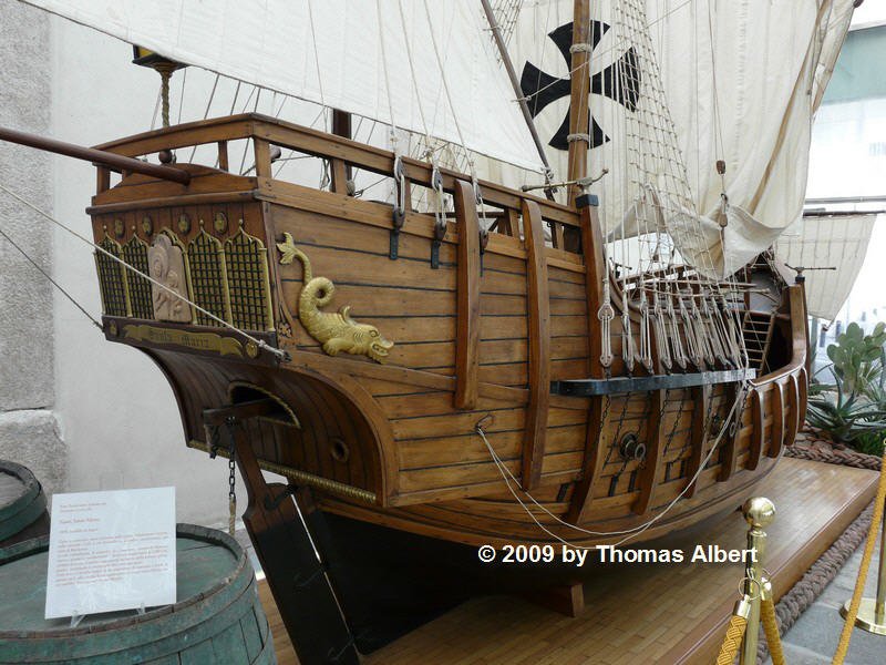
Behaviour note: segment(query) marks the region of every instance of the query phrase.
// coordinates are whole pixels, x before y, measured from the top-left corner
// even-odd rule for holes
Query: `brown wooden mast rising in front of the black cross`
[[[585,177],[590,147],[588,99],[590,96],[590,0],[575,0],[573,4],[573,47],[569,71],[569,167],[566,180]],[[581,193],[578,185],[569,185],[569,205]]]

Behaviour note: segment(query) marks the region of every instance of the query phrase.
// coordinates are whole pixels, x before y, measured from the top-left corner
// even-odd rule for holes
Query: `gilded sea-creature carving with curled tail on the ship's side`
[[[291,264],[298,258],[305,272],[303,286],[298,297],[298,319],[308,334],[319,341],[323,351],[336,356],[341,351],[354,356],[368,356],[377,362],[384,362],[394,346],[385,339],[375,326],[360,324],[349,314],[346,305],[339,311],[321,311],[336,293],[336,286],[326,277],[315,277],[308,256],[292,241],[292,235],[284,233],[284,242],[277,243],[280,263]]]

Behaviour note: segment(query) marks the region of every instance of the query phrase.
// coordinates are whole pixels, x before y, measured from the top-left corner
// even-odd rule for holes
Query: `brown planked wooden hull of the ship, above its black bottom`
[[[333,172],[392,167],[390,153],[318,134],[248,115],[102,146],[131,156],[239,136],[256,146],[255,177],[185,165],[188,186],[126,175],[112,187],[100,172],[90,208],[96,243],[134,267],[168,238],[187,296],[228,321],[196,308],[179,308],[186,320],[157,316],[155,287],[99,259],[105,334],[157,362],[193,448],[219,451],[205,410],[271,399],[272,417],[244,426],[253,450],[311,488],[321,510],[501,548],[686,529],[738,507],[792,443],[805,409],[802,286],[771,313],[748,306],[749,346],[765,338],[761,376],[738,381],[715,364],[666,371],[657,357],[632,371],[658,377],[653,388],[607,391],[631,372],[619,335],[617,359],[599,362],[593,209],[484,184],[497,211],[484,239],[473,190],[444,172],[455,214],[406,212],[398,227],[390,205],[341,183],[326,192],[271,177],[270,142],[326,154]],[[406,167],[412,186],[431,184],[426,165]],[[599,395],[554,390],[584,379]]]

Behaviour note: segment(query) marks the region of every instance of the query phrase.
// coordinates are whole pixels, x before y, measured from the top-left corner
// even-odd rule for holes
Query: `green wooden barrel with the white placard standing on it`
[[[175,605],[44,620],[49,539],[0,550],[0,663],[276,664],[253,566],[220,531],[178,524]]]

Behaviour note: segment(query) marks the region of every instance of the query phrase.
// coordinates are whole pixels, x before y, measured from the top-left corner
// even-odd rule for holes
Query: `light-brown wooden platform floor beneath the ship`
[[[764,566],[787,591],[872,501],[873,471],[783,459],[754,492],[777,509]],[[691,543],[743,548],[729,515]],[[641,545],[640,545],[641,546]],[[691,548],[689,548],[691,552]],[[586,608],[567,618],[514,597],[476,598],[367,656],[368,665],[578,665],[713,662],[738,597],[741,564],[618,566],[585,585]],[[261,600],[280,665],[298,659],[267,590]]]

